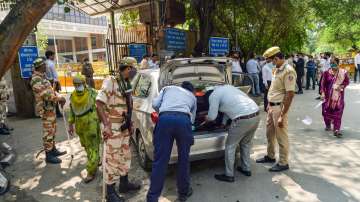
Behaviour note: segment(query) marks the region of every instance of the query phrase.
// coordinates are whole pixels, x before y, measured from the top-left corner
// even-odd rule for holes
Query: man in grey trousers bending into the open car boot
[[[251,176],[250,151],[252,139],[259,125],[259,106],[244,92],[234,86],[224,85],[208,91],[209,112],[207,121],[214,121],[218,112],[224,114],[223,123],[231,121],[225,143],[225,173],[215,179],[234,182],[236,148],[240,146],[240,164],[237,168],[245,176]]]

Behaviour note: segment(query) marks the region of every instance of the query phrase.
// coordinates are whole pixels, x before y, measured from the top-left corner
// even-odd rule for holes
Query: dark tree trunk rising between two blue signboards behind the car
[[[200,39],[194,48],[198,56],[208,50],[209,38],[214,31],[216,0],[193,0],[192,4],[199,18]]]

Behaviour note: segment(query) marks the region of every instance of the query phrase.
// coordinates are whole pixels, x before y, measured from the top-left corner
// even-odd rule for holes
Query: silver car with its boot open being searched
[[[229,58],[189,58],[168,61],[160,69],[141,70],[132,80],[133,122],[132,139],[139,153],[140,165],[149,170],[153,156],[153,130],[158,114],[152,108],[152,100],[159,91],[168,85],[179,85],[190,81],[196,89],[197,115],[193,125],[194,145],[191,147],[191,160],[216,158],[224,155],[227,131],[221,124],[221,114],[216,124],[201,124],[205,120],[209,106],[205,92],[214,86],[231,83],[231,64]],[[249,92],[250,86],[242,86]],[[176,144],[173,146],[170,163],[177,160]]]

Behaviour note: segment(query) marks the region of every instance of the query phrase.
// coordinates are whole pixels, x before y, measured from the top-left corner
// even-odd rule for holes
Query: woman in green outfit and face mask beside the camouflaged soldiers
[[[76,132],[81,146],[85,148],[88,162],[84,182],[89,183],[95,178],[100,161],[100,122],[95,105],[97,92],[86,85],[82,75],[75,76],[73,84],[75,90],[70,96],[69,134],[73,136]]]

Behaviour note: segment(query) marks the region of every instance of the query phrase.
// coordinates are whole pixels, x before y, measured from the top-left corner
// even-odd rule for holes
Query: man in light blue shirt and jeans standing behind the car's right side
[[[255,53],[251,52],[249,54],[250,60],[246,63],[246,70],[250,74],[253,85],[251,88],[253,96],[260,96],[260,84],[259,84],[259,72],[260,67],[259,63],[255,59]]]

